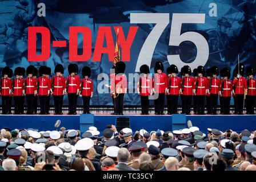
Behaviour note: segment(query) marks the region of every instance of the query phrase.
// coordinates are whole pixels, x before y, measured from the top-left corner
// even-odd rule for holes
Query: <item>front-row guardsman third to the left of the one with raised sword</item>
[[[197,67],[198,78],[195,81],[195,95],[197,96],[197,112],[198,114],[205,114],[205,95],[209,92],[207,85],[207,78],[203,77],[205,68],[202,66]]]

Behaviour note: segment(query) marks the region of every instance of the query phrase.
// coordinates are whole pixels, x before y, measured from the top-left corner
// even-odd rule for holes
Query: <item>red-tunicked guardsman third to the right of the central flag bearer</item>
[[[169,114],[178,114],[178,99],[179,92],[181,89],[181,78],[177,77],[178,67],[174,64],[170,65],[171,77],[168,79],[168,90],[167,94],[170,96],[171,112]]]

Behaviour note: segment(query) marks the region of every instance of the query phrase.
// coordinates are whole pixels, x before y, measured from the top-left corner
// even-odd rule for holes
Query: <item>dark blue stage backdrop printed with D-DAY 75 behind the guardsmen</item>
[[[111,105],[110,94],[97,92],[97,76],[110,73],[118,27],[126,74],[142,64],[153,73],[156,61],[165,71],[170,64],[179,71],[186,64],[233,71],[238,55],[246,67],[255,67],[255,13],[255,0],[1,0],[0,69],[46,65],[53,76],[60,63],[67,76],[67,66],[76,63],[81,76],[87,65],[94,81],[91,104]],[[33,42],[33,32],[40,30]],[[55,40],[66,41],[66,47]],[[134,82],[129,80],[130,92]],[[126,94],[125,105],[139,104],[137,93]]]

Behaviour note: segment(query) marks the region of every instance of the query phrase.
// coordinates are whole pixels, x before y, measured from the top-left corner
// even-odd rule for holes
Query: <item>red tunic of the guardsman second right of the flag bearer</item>
[[[155,92],[156,93],[165,93],[167,86],[168,86],[168,81],[167,81],[167,75],[165,73],[155,73]]]

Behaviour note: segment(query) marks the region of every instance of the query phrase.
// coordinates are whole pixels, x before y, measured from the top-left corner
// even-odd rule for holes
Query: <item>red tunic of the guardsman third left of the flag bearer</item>
[[[66,80],[63,76],[53,76],[51,78],[51,89],[54,96],[63,96]]]

